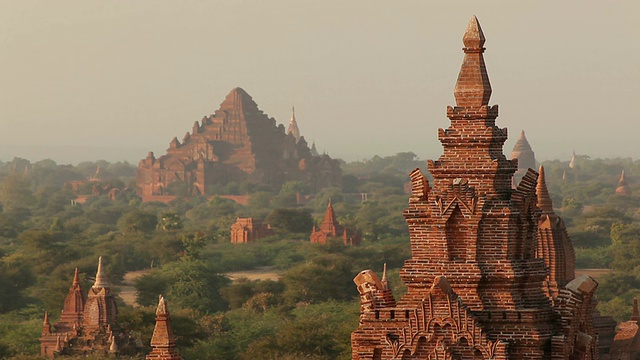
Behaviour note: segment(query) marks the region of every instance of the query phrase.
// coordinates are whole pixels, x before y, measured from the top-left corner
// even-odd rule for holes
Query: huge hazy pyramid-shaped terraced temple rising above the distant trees
[[[182,141],[173,138],[165,155],[149,152],[140,161],[136,191],[143,201],[167,201],[175,195],[210,195],[230,182],[278,189],[287,181],[303,181],[314,192],[341,186],[338,161],[311,150],[295,115],[285,132],[246,91],[235,88]]]

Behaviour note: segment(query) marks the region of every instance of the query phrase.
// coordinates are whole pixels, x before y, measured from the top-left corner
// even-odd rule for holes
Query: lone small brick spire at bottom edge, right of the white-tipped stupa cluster
[[[158,308],[156,309],[156,327],[151,338],[151,353],[147,355],[147,360],[179,360],[180,355],[176,351],[176,339],[171,331],[169,321],[169,309],[167,301],[159,296]]]

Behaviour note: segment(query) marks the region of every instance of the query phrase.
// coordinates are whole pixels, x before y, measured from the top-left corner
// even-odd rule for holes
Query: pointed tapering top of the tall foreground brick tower
[[[464,107],[479,107],[489,104],[491,84],[482,53],[485,37],[475,15],[469,21],[462,37],[464,61],[458,74],[453,94],[456,104]]]

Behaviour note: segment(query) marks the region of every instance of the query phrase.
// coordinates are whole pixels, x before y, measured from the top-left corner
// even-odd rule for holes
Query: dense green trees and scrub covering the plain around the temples
[[[185,358],[348,359],[359,312],[353,276],[367,268],[380,274],[387,263],[394,294],[404,291],[398,278],[410,257],[404,185],[424,165],[412,153],[345,163],[343,187],[314,196],[299,182],[277,191],[237,183],[219,189],[247,195],[243,206],[220,196],[141,203],[128,163],[0,163],[0,358],[37,356],[44,310],[55,322],[73,268],[86,289],[101,255],[116,291],[125,274],[143,271],[136,282],[140,306],[121,302],[119,318],[147,344],[161,293]],[[544,165],[578,266],[611,269],[598,278],[599,308],[626,320],[640,287],[640,197],[614,190],[624,168],[640,194],[633,181],[640,162],[579,157],[574,169],[560,161]],[[98,181],[70,185],[90,177]],[[121,190],[115,199],[97,195],[111,187]],[[85,203],[72,202],[91,193]],[[309,243],[329,198],[340,222],[358,229],[362,246]],[[238,216],[267,219],[277,235],[230,244]],[[226,275],[255,269],[278,276],[231,281]]]

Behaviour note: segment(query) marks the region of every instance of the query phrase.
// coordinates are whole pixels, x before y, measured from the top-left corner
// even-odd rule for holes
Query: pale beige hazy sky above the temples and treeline
[[[161,155],[237,86],[334,157],[435,159],[474,14],[505,153],[640,157],[637,0],[0,0],[0,160]]]

